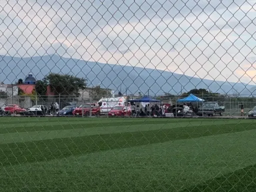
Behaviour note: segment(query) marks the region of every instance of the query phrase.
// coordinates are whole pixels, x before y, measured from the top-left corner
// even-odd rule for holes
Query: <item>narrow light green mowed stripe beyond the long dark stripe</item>
[[[246,122],[249,124],[248,122]],[[0,144],[12,143],[12,142],[25,142],[25,141],[36,141],[44,139],[54,138],[66,138],[86,135],[98,135],[98,134],[114,134],[122,132],[137,132],[137,131],[152,131],[159,129],[170,129],[170,128],[184,128],[193,126],[204,126],[207,129],[209,125],[215,125],[219,128],[223,125],[223,121],[212,122],[208,121],[132,121],[132,122],[113,122],[108,123],[108,126],[102,126],[101,123],[87,123],[81,121],[76,125],[69,125],[68,122],[65,125],[59,125],[58,122],[51,122],[51,125],[41,126],[20,126],[11,128],[0,129]],[[235,126],[236,120],[229,120],[224,122],[225,126]]]

